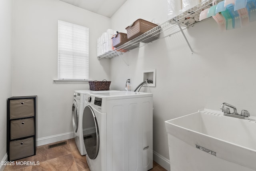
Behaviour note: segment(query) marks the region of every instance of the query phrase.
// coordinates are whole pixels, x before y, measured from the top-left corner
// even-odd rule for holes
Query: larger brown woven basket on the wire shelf
[[[156,26],[158,25],[152,22],[138,19],[131,26],[125,28],[127,31],[127,38],[128,40],[132,40]]]

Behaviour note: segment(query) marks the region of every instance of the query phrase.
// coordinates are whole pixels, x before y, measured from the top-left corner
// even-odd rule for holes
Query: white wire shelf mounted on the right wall
[[[101,58],[114,58],[116,56],[122,55],[125,52],[128,52],[129,50],[139,48],[144,46],[145,44],[148,44],[150,42],[153,42],[155,40],[158,40],[160,38],[165,38],[167,36],[171,36],[173,34],[176,34],[190,26],[194,26],[195,24],[198,24],[202,21],[196,20],[193,24],[189,24],[189,22],[186,22],[186,18],[199,18],[200,12],[206,8],[210,8],[212,6],[213,0],[206,0],[193,8],[190,8],[189,10],[186,10],[185,12],[181,13],[178,16],[175,16],[174,18],[164,22],[163,24],[160,24],[159,26],[149,30],[148,32],[130,40],[129,42],[126,42],[125,44],[122,44],[121,46],[118,46],[113,51],[106,52],[103,55],[98,56],[98,60]],[[217,2],[220,2],[221,0],[217,0]],[[212,17],[210,17],[212,18]],[[209,19],[209,18],[207,18]],[[205,20],[207,20],[205,19]],[[182,30],[180,29],[177,22],[182,26]]]

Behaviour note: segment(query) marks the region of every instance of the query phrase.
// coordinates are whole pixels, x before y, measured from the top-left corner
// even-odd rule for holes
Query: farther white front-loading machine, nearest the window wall
[[[75,134],[76,146],[81,155],[86,155],[83,138],[83,112],[84,112],[84,94],[89,92],[108,92],[116,90],[106,91],[93,91],[93,90],[75,90],[73,105],[72,105],[72,122]]]

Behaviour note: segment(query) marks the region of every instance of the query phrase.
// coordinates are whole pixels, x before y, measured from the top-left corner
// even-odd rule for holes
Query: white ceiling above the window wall
[[[126,0],[60,0],[102,16],[111,17]]]

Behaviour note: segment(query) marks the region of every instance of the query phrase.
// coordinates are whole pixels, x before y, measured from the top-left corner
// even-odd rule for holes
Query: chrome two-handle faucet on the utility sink
[[[234,112],[230,113],[230,109],[225,106],[233,108]],[[224,116],[236,117],[240,119],[249,119],[249,116],[250,116],[250,113],[247,110],[242,110],[241,114],[239,115],[236,111],[236,107],[228,103],[222,103],[220,106],[220,109],[222,109],[222,111],[224,112]]]

